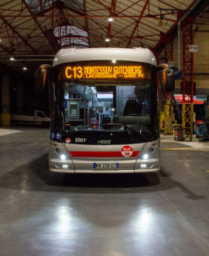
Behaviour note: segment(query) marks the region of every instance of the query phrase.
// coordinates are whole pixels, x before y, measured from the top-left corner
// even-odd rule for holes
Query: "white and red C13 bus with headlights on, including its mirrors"
[[[169,91],[173,75],[160,70]],[[41,66],[43,80],[50,74],[50,171],[159,171],[157,71],[144,48],[63,49]]]

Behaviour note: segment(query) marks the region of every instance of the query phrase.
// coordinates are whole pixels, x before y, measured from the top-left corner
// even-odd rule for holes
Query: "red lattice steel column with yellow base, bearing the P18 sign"
[[[194,43],[194,19],[187,17],[182,23],[183,29],[183,106],[182,127],[183,139],[193,137],[193,96],[194,96],[194,56],[189,46]]]

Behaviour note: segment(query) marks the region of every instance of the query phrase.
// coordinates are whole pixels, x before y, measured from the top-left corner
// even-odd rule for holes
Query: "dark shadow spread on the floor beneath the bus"
[[[166,171],[142,174],[60,174],[49,171],[48,154],[35,161],[27,162],[12,171],[6,171],[0,186],[45,192],[122,193],[157,192],[175,187],[180,188],[187,198],[203,199],[180,182],[176,182]]]

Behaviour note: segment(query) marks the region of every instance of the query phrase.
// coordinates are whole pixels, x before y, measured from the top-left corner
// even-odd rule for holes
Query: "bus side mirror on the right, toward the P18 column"
[[[159,64],[160,83],[166,92],[174,92],[174,71],[167,64]]]

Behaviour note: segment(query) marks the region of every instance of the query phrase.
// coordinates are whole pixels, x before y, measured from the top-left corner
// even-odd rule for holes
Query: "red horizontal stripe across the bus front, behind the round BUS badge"
[[[124,157],[121,151],[69,151],[72,157]],[[130,157],[136,157],[139,151],[133,151]]]

